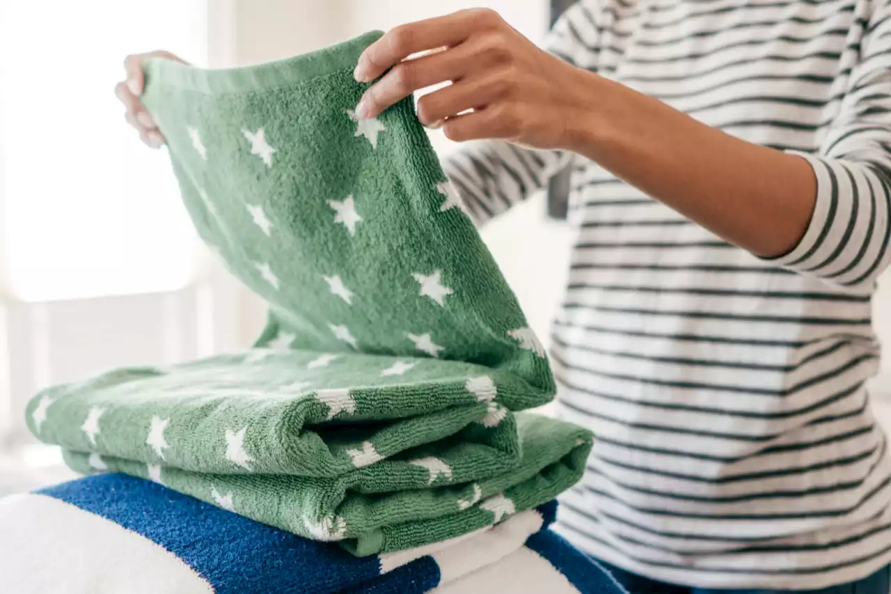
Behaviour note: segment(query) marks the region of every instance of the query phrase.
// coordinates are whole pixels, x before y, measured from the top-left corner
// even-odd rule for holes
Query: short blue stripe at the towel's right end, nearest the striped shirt
[[[529,537],[527,549],[534,550],[581,594],[628,594],[591,557],[584,555],[559,534],[545,530]]]

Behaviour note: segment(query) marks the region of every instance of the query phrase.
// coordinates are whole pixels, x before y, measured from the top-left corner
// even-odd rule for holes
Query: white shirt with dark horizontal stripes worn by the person
[[[800,243],[766,260],[572,158],[577,238],[552,362],[561,416],[597,441],[561,530],[626,570],[702,588],[817,589],[878,571],[891,463],[864,382],[891,258],[891,0],[583,0],[549,46],[802,154],[818,188]],[[558,159],[485,142],[446,171],[482,222],[543,187]]]

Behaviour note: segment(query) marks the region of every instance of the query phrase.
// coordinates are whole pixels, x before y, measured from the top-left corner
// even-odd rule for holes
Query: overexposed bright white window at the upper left
[[[127,54],[207,56],[206,3],[0,0],[0,255],[22,301],[155,293],[200,261],[167,155],[115,83]]]

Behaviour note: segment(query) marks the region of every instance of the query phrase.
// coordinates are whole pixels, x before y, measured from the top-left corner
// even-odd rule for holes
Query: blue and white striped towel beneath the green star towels
[[[99,474],[0,499],[0,576],[16,594],[623,594],[546,529],[555,509],[421,549],[353,557],[158,483]]]

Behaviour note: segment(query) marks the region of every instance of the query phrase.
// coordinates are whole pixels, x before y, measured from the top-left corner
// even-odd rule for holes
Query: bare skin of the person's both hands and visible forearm
[[[149,55],[178,60],[163,52],[129,56],[116,92],[143,142],[159,146],[163,137],[138,98]],[[419,100],[425,126],[459,142],[503,139],[579,153],[756,255],[789,252],[811,219],[816,178],[801,157],[709,128],[563,62],[497,12],[465,10],[391,29],[364,51],[355,77],[376,80],[356,106],[360,117],[451,83]]]

